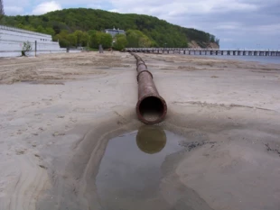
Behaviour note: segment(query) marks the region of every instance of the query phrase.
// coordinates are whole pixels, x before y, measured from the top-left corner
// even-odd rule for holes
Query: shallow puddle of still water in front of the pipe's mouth
[[[144,126],[110,140],[96,178],[102,209],[174,209],[161,195],[162,164],[185,138]]]

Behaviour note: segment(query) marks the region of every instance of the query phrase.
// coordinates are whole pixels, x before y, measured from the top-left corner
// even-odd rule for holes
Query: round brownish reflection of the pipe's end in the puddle
[[[141,151],[154,154],[165,147],[166,134],[159,126],[144,125],[137,132],[136,143]]]

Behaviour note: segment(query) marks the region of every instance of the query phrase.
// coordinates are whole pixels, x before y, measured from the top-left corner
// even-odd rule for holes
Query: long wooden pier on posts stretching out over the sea
[[[216,56],[280,56],[280,50],[218,50],[190,48],[126,48],[127,52]]]

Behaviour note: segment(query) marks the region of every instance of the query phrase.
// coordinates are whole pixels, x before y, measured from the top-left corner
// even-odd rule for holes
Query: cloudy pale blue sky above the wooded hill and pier
[[[280,49],[280,0],[3,0],[5,14],[44,14],[86,7],[149,14],[210,32],[220,48]],[[112,25],[113,27],[113,25]]]

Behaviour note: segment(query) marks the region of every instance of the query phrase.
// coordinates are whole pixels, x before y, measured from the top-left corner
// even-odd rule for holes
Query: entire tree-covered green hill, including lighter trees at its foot
[[[114,40],[115,44],[117,39],[120,39],[121,42],[127,42],[127,46],[133,47],[183,48],[188,47],[188,43],[191,41],[197,41],[201,45],[209,42],[218,42],[219,44],[219,40],[208,32],[184,28],[153,16],[117,14],[85,8],[63,9],[42,15],[5,16],[2,23],[34,32],[51,34],[53,40],[59,40],[64,46],[83,46],[87,42],[87,45],[94,47],[94,44],[98,41],[107,41],[108,37],[106,38],[102,32],[114,26],[125,30],[127,35],[126,39],[125,37],[117,36]],[[79,40],[79,36],[81,40]],[[87,37],[88,40],[86,39]],[[134,40],[135,37],[137,37],[136,41]]]

